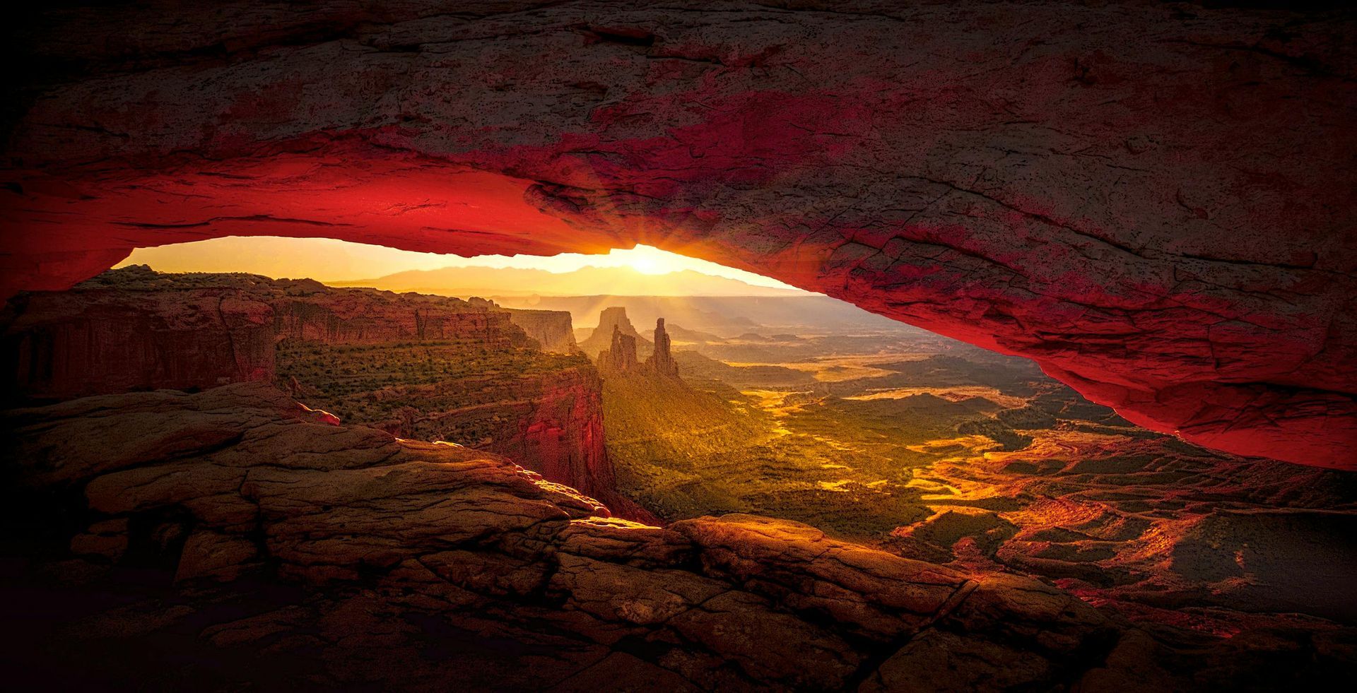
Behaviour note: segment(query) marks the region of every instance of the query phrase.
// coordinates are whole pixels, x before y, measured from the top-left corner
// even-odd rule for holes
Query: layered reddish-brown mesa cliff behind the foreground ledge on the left
[[[547,342],[570,335],[569,313],[532,313]],[[593,366],[525,349],[512,319],[457,298],[129,267],[11,301],[3,355],[18,399],[277,381],[346,422],[482,446],[634,509],[612,486]]]

